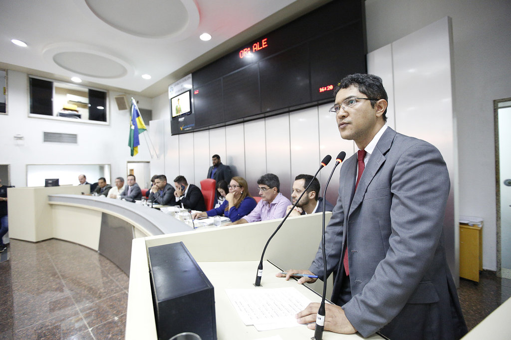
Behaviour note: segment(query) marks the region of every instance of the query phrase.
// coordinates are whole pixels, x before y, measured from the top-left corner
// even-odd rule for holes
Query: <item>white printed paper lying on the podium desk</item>
[[[294,287],[226,289],[225,293],[243,323],[258,330],[299,326],[295,315],[311,302]]]

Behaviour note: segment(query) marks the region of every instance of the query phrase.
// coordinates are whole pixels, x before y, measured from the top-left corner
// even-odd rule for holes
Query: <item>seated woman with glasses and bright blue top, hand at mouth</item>
[[[238,221],[245,215],[248,215],[257,202],[250,196],[248,192],[247,181],[243,177],[235,176],[230,180],[229,193],[225,195],[225,200],[218,208],[214,208],[207,212],[196,213],[193,218],[225,216],[231,222]]]

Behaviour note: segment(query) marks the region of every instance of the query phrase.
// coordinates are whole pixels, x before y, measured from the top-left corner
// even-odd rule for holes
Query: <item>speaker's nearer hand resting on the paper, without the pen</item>
[[[344,310],[340,306],[326,304],[325,306],[324,329],[335,333],[353,334],[357,330],[346,318]],[[307,328],[316,328],[316,313],[319,309],[318,302],[311,302],[304,310],[296,315],[299,324],[307,324]]]

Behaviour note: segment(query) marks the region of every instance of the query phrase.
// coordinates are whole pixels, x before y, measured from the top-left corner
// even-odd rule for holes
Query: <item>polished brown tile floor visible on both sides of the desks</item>
[[[89,248],[60,240],[11,240],[0,260],[0,339],[123,339],[128,276]],[[511,297],[511,280],[460,279],[472,329]]]

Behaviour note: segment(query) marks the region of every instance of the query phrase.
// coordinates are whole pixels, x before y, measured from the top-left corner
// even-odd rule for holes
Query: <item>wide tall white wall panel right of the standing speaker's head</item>
[[[397,131],[435,145],[447,163],[451,192],[444,220],[446,255],[456,282],[459,242],[454,186],[454,117],[451,72],[452,30],[448,17],[392,43]],[[457,164],[457,162],[456,162]]]

